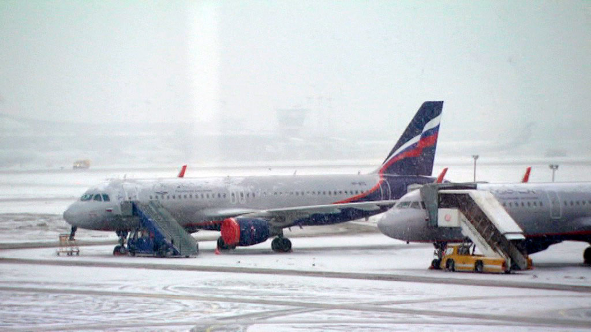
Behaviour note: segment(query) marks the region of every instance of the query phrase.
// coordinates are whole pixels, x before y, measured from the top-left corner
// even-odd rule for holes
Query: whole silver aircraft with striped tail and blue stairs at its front
[[[443,102],[423,103],[371,174],[111,180],[87,190],[64,219],[72,236],[77,227],[111,230],[123,243],[138,219],[122,216],[121,202],[157,200],[188,232],[220,230],[220,249],[277,236],[272,249],[287,252],[291,242],[283,236],[285,227],[373,216],[394,205],[410,185],[432,183],[442,108]]]

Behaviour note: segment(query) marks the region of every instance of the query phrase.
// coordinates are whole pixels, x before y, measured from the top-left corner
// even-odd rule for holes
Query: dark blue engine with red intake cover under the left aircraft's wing
[[[252,246],[269,238],[269,223],[258,218],[227,218],[222,222],[221,233],[228,246]]]

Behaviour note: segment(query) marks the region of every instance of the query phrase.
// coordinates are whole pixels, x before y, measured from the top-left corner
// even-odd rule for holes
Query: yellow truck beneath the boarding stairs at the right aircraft
[[[441,256],[440,267],[446,271],[511,272],[504,258],[475,255],[472,247],[471,243],[448,244]],[[531,259],[528,259],[531,268],[530,262]]]

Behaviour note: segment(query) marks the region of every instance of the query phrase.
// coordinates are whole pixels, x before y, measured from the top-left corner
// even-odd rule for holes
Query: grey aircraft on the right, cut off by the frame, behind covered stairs
[[[564,240],[591,243],[591,183],[477,184],[488,190],[524,231],[534,253]],[[418,190],[405,194],[378,222],[382,233],[408,242],[458,242],[459,227],[430,227]],[[591,263],[591,247],[584,250]]]

